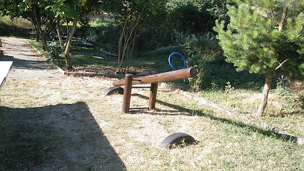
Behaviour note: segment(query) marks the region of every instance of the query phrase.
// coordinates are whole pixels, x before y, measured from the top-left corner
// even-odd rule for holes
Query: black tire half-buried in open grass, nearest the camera
[[[181,145],[185,142],[185,145],[193,144],[193,142],[196,142],[191,135],[188,135],[186,133],[173,133],[169,135],[161,144],[159,147],[161,148],[167,148],[167,147],[173,147],[173,145]]]

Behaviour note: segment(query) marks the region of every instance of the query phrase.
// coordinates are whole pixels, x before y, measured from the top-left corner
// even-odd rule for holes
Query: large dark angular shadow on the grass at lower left
[[[0,170],[126,170],[86,103],[0,106]]]

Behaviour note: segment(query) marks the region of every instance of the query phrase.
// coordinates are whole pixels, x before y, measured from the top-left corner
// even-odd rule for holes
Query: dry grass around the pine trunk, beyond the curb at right
[[[199,95],[228,106],[240,115],[250,115],[255,118],[255,112],[260,104],[260,91],[235,89],[225,95],[224,92],[202,92]],[[268,105],[261,118],[255,118],[275,128],[282,128],[288,133],[304,137],[303,130],[303,105],[295,100],[288,88],[270,90]],[[243,122],[243,121],[242,121]]]

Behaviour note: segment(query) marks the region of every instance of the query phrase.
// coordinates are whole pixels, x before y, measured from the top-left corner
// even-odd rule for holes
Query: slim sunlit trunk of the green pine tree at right
[[[260,106],[258,107],[258,112],[256,113],[257,116],[263,115],[263,113],[264,113],[264,110],[266,108],[267,101],[268,101],[268,93],[269,93],[269,90],[270,90],[272,79],[273,79],[273,76],[268,76],[268,75],[265,78],[263,95],[262,95],[262,98],[260,100]]]

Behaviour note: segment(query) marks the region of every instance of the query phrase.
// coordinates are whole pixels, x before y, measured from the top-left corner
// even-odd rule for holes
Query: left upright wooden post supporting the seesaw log
[[[125,77],[125,88],[123,89],[123,113],[130,113],[130,102],[131,102],[131,90],[132,90],[132,74],[126,74]]]

